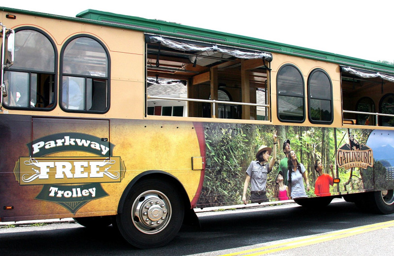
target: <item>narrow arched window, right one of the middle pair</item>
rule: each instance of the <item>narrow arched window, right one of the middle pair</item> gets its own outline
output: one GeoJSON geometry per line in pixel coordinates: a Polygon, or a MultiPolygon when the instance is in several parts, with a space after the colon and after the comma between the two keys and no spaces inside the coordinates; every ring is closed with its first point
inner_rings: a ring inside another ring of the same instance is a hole
{"type": "Polygon", "coordinates": [[[308,106],[308,117],[311,123],[332,123],[332,84],[323,69],[314,69],[308,77],[308,106]]]}

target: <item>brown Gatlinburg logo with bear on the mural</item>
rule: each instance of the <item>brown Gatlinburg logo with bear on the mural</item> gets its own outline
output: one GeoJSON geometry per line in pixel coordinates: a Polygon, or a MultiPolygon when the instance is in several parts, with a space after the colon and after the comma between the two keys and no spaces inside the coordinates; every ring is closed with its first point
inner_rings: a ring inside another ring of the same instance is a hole
{"type": "Polygon", "coordinates": [[[373,166],[372,149],[365,144],[359,142],[352,136],[349,136],[349,143],[344,144],[336,152],[336,161],[338,167],[350,169],[352,167],[360,167],[366,169],[373,166]]]}

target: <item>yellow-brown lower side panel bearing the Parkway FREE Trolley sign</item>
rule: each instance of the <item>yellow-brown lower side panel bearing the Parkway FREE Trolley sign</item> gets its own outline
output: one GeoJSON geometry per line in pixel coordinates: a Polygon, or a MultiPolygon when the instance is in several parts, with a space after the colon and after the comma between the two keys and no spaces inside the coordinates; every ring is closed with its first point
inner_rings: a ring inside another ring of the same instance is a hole
{"type": "Polygon", "coordinates": [[[114,215],[127,185],[150,170],[174,176],[190,201],[201,190],[198,124],[9,115],[1,126],[1,221],[114,215]]]}

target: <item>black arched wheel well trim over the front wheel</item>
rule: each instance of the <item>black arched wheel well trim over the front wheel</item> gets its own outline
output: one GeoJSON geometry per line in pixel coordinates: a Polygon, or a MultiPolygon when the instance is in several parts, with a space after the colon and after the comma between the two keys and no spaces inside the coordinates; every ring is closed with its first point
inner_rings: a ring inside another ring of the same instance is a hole
{"type": "Polygon", "coordinates": [[[164,171],[160,171],[160,170],[151,170],[151,171],[146,171],[146,172],[140,173],[134,179],[131,180],[131,182],[127,185],[125,191],[123,192],[123,194],[119,200],[118,213],[122,213],[122,205],[125,203],[126,197],[129,194],[131,188],[137,182],[140,182],[142,180],[147,180],[147,179],[160,179],[160,180],[163,180],[165,182],[172,184],[172,186],[175,186],[176,190],[180,193],[180,196],[184,202],[185,221],[189,222],[189,220],[194,220],[194,216],[189,216],[191,214],[192,215],[193,214],[196,215],[196,214],[194,213],[193,209],[191,209],[190,200],[188,198],[185,188],[182,186],[182,184],[180,183],[180,181],[176,177],[174,177],[173,175],[166,173],[164,171]]]}

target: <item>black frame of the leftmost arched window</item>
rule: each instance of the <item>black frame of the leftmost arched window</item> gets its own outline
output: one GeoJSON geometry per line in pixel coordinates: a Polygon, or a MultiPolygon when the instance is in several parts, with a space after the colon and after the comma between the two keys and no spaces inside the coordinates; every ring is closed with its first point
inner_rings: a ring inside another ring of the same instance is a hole
{"type": "Polygon", "coordinates": [[[53,48],[54,70],[53,70],[53,72],[48,72],[48,71],[37,71],[37,70],[33,70],[33,69],[20,69],[20,68],[13,68],[12,65],[10,67],[4,68],[5,72],[18,72],[18,73],[28,73],[29,74],[29,78],[28,78],[28,82],[29,82],[29,84],[28,84],[28,106],[27,107],[25,107],[25,106],[8,106],[4,103],[4,101],[3,101],[2,106],[5,109],[9,109],[9,110],[52,111],[58,103],[58,101],[57,101],[57,99],[58,99],[58,97],[57,97],[57,94],[58,94],[58,87],[57,87],[57,84],[58,84],[58,63],[59,63],[58,49],[56,47],[54,40],[52,39],[52,37],[48,33],[44,32],[43,30],[40,30],[38,28],[32,27],[32,26],[24,26],[24,27],[16,28],[14,30],[15,35],[17,32],[25,31],[25,30],[32,30],[32,31],[41,33],[43,36],[45,36],[48,39],[49,43],[52,45],[52,48],[53,48]],[[32,74],[37,74],[37,77],[40,74],[53,75],[52,82],[53,82],[54,96],[53,96],[53,102],[50,102],[50,103],[53,103],[52,106],[50,106],[50,107],[31,107],[30,102],[32,99],[31,98],[31,96],[32,96],[32,84],[31,84],[32,74]]]}

